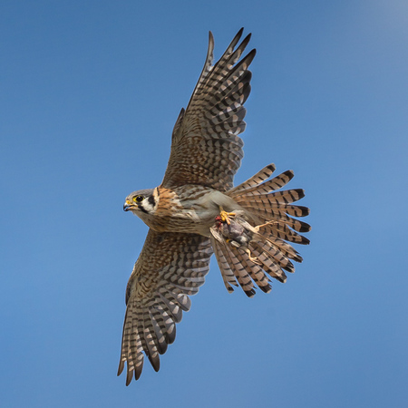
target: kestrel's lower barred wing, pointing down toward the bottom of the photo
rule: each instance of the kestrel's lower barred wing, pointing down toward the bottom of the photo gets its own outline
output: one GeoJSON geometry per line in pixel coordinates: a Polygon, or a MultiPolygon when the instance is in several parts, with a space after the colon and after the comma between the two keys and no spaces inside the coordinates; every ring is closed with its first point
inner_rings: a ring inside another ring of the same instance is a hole
{"type": "Polygon", "coordinates": [[[159,355],[176,336],[176,323],[188,311],[209,272],[209,238],[159,233],[150,229],[126,289],[126,316],[118,375],[127,362],[126,385],[143,368],[143,352],[159,371],[159,355]]]}

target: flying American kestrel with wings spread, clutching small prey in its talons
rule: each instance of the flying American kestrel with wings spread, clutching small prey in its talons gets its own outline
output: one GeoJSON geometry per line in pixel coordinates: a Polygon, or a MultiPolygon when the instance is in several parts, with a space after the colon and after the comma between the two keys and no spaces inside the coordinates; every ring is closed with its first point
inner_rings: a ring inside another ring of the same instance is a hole
{"type": "Polygon", "coordinates": [[[164,179],[155,189],[132,192],[123,206],[150,227],[126,288],[118,375],[127,362],[127,385],[133,375],[139,379],[143,354],[159,370],[159,355],[173,343],[189,295],[204,284],[213,252],[228,292],[239,285],[254,296],[256,286],[271,290],[268,277],[285,282],[285,271],[295,270],[291,260],[302,261],[287,241],[309,243],[298,232],[310,226],[293,218],[309,213],[292,204],[304,197],[303,189],[277,191],[293,178],[292,170],[271,179],[275,166],[269,164],[233,187],[243,157],[238,134],[246,127],[248,67],[256,53],[240,59],[250,39],[248,34],[236,48],[242,32],[214,65],[209,33],[199,82],[173,129],[164,179]]]}

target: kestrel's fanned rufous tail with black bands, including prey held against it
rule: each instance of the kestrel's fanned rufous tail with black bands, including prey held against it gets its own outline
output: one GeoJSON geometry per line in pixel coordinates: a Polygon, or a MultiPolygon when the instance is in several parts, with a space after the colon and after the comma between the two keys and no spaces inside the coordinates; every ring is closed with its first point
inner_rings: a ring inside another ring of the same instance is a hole
{"type": "Polygon", "coordinates": [[[268,293],[272,288],[268,277],[286,282],[286,272],[295,272],[292,261],[303,260],[289,242],[309,243],[299,232],[309,231],[310,226],[293,218],[309,214],[306,207],[293,204],[305,192],[277,191],[292,180],[294,173],[287,170],[270,179],[274,170],[275,166],[269,164],[230,189],[228,196],[245,211],[234,211],[228,222],[218,221],[211,228],[211,244],[228,292],[239,285],[249,297],[255,295],[256,286],[268,293]]]}

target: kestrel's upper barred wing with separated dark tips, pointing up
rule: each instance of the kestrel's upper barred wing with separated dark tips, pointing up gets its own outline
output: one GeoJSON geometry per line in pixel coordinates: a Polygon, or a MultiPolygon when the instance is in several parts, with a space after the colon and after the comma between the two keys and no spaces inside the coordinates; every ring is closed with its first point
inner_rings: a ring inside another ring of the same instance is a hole
{"type": "Polygon", "coordinates": [[[241,28],[219,62],[212,66],[214,39],[209,32],[209,51],[199,82],[174,126],[170,160],[161,183],[174,188],[200,184],[226,191],[243,157],[238,134],[245,130],[243,104],[250,92],[248,70],[256,50],[239,62],[250,34],[238,45],[241,28]]]}

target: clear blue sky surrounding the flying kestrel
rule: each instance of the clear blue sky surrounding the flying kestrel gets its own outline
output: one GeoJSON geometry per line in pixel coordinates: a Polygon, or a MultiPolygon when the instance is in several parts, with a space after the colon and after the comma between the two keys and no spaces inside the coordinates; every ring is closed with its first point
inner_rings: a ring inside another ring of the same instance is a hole
{"type": "Polygon", "coordinates": [[[408,4],[3,1],[2,407],[403,407],[408,400],[408,4]],[[295,170],[305,261],[269,295],[211,262],[159,373],[116,377],[124,291],[207,52],[257,48],[245,158],[295,170]]]}

